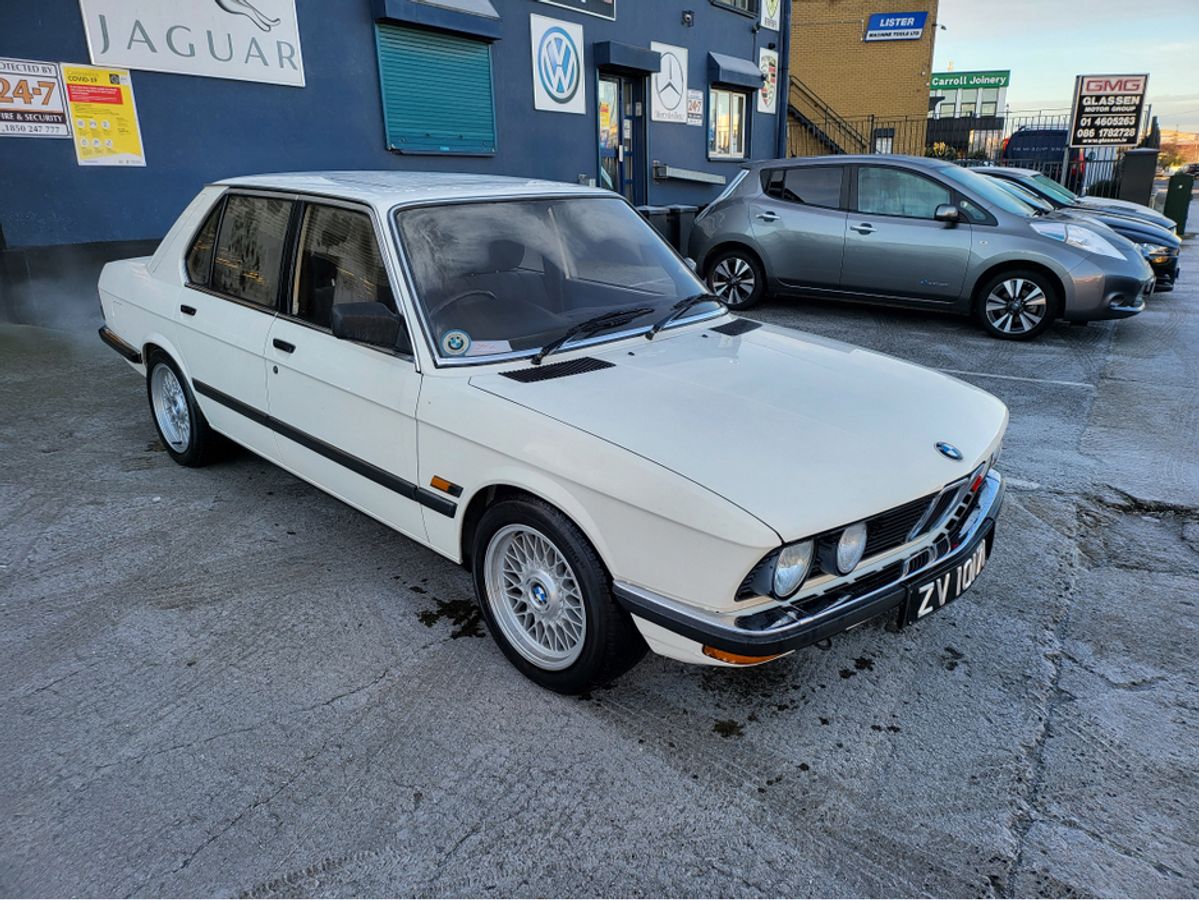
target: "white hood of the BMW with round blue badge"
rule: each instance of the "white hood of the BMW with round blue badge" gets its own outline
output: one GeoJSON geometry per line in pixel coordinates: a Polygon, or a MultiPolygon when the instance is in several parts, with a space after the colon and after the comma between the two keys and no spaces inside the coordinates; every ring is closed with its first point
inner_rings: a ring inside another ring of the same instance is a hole
{"type": "Polygon", "coordinates": [[[470,381],[707,488],[785,540],[965,477],[1007,425],[1006,406],[976,387],[771,326],[741,336],[687,328],[590,356],[611,366],[470,381]],[[942,455],[939,441],[963,459],[942,455]]]}

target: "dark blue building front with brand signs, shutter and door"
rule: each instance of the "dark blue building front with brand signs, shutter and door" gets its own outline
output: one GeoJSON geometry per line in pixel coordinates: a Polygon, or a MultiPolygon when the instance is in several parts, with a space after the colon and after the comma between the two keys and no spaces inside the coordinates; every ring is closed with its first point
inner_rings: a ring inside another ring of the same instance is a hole
{"type": "Polygon", "coordinates": [[[31,103],[0,103],[0,249],[156,238],[204,183],[265,171],[493,173],[706,203],[745,159],[783,149],[779,7],[5,2],[0,64],[50,68],[22,75],[31,103]],[[74,68],[89,65],[106,68],[74,68]],[[53,87],[36,87],[54,66],[71,104],[30,126],[58,108],[53,87]],[[106,93],[113,105],[97,105],[106,93]],[[42,101],[47,111],[25,108],[42,101]],[[30,137],[47,128],[68,133],[30,137]]]}

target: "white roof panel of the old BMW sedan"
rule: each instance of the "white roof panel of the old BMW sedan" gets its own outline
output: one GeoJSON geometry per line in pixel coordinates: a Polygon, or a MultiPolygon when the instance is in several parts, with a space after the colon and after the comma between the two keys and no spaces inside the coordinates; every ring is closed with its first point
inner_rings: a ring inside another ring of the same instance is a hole
{"type": "Polygon", "coordinates": [[[475,198],[544,197],[546,194],[611,195],[610,191],[542,179],[436,171],[295,171],[241,175],[219,186],[265,188],[338,197],[390,207],[402,203],[475,198]]]}

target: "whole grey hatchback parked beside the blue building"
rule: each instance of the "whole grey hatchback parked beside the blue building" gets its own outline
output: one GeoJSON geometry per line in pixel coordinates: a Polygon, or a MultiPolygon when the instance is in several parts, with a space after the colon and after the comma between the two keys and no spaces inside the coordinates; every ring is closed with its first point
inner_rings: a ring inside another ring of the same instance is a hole
{"type": "Polygon", "coordinates": [[[1123,319],[1153,272],[1123,237],[1046,215],[939,159],[827,156],[743,169],[695,221],[691,255],[745,309],[767,292],[974,315],[1024,340],[1055,319],[1123,319]]]}

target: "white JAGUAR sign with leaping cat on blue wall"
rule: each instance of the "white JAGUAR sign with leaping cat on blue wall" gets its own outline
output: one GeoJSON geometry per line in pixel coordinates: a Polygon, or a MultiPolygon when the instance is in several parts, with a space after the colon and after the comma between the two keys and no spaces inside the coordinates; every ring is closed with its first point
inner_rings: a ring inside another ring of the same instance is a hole
{"type": "Polygon", "coordinates": [[[79,0],[91,61],[303,86],[295,0],[79,0]]]}

